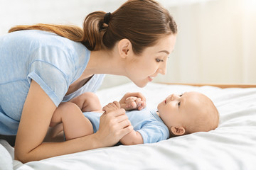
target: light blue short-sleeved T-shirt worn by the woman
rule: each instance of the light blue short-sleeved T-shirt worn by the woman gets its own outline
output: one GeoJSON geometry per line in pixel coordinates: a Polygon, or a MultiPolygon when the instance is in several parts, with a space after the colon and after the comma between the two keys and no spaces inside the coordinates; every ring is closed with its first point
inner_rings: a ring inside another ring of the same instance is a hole
{"type": "Polygon", "coordinates": [[[68,87],[87,67],[90,50],[54,33],[21,30],[0,37],[0,135],[16,135],[31,79],[55,106],[85,91],[95,92],[104,74],[65,96],[68,87]]]}

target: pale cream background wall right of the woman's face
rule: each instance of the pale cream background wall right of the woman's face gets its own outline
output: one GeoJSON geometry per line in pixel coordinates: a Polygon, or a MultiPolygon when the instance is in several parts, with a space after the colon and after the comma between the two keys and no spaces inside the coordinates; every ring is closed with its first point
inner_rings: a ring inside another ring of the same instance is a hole
{"type": "Polygon", "coordinates": [[[255,0],[215,0],[169,9],[178,23],[178,40],[167,81],[256,84],[255,0]]]}

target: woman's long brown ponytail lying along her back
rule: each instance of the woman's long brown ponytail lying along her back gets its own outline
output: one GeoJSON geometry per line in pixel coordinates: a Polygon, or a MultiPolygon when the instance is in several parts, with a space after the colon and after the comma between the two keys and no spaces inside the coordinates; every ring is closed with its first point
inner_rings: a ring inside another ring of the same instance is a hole
{"type": "Polygon", "coordinates": [[[9,30],[9,33],[18,30],[44,30],[81,42],[88,50],[100,50],[105,47],[102,45],[102,37],[108,28],[108,24],[104,23],[105,14],[103,11],[90,13],[85,18],[83,30],[78,26],[38,23],[33,26],[15,26],[9,30]]]}

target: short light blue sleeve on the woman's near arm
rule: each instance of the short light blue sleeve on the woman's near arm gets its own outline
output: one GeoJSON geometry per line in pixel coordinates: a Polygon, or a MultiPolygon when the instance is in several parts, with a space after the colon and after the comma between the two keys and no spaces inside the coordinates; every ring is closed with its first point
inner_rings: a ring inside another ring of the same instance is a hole
{"type": "Polygon", "coordinates": [[[72,61],[58,47],[41,47],[32,56],[28,80],[36,81],[55,106],[63,100],[73,79],[72,61]]]}

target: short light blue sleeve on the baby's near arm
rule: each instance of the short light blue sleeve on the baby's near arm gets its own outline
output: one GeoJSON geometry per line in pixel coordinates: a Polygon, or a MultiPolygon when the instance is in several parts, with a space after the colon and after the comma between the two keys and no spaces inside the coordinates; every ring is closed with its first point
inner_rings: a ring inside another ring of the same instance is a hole
{"type": "Polygon", "coordinates": [[[168,128],[158,121],[146,123],[138,132],[142,135],[144,143],[154,143],[169,138],[168,128]]]}

